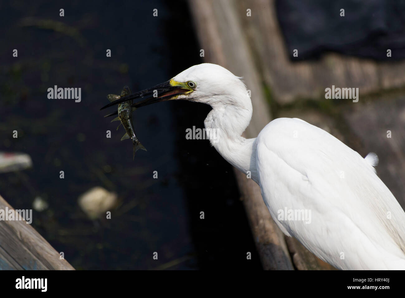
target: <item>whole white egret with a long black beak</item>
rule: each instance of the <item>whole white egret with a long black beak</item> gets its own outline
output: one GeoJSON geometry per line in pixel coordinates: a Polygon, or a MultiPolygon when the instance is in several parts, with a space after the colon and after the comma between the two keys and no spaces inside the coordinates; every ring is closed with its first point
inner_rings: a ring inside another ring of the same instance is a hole
{"type": "Polygon", "coordinates": [[[257,138],[245,139],[252,117],[246,86],[216,64],[194,65],[114,103],[145,96],[134,106],[172,99],[211,105],[204,124],[217,133],[212,146],[234,167],[252,173],[277,226],[320,259],[339,269],[405,269],[405,212],[376,175],[376,155],[363,159],[297,118],[275,119],[257,138]],[[309,210],[311,218],[280,219],[283,210],[309,210]]]}

